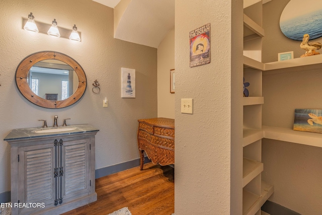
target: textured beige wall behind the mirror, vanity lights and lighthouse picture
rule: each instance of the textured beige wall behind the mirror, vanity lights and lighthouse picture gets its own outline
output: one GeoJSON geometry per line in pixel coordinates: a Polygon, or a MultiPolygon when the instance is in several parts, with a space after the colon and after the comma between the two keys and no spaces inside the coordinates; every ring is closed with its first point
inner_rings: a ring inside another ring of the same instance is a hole
{"type": "Polygon", "coordinates": [[[89,123],[100,129],[96,138],[96,169],[139,158],[137,119],[157,116],[157,50],[113,38],[113,9],[89,0],[3,0],[0,7],[0,193],[10,190],[10,146],[3,139],[13,128],[41,126],[71,118],[70,124],[89,123]],[[71,28],[76,24],[82,42],[31,34],[22,18],[32,12],[39,22],[71,28]],[[18,91],[15,71],[27,55],[53,50],[74,58],[85,70],[85,95],[74,105],[58,110],[38,107],[18,91]],[[121,67],[136,69],[136,98],[121,98],[121,67]],[[92,92],[99,81],[101,92],[92,92]],[[107,97],[108,108],[103,108],[107,97]]]}

